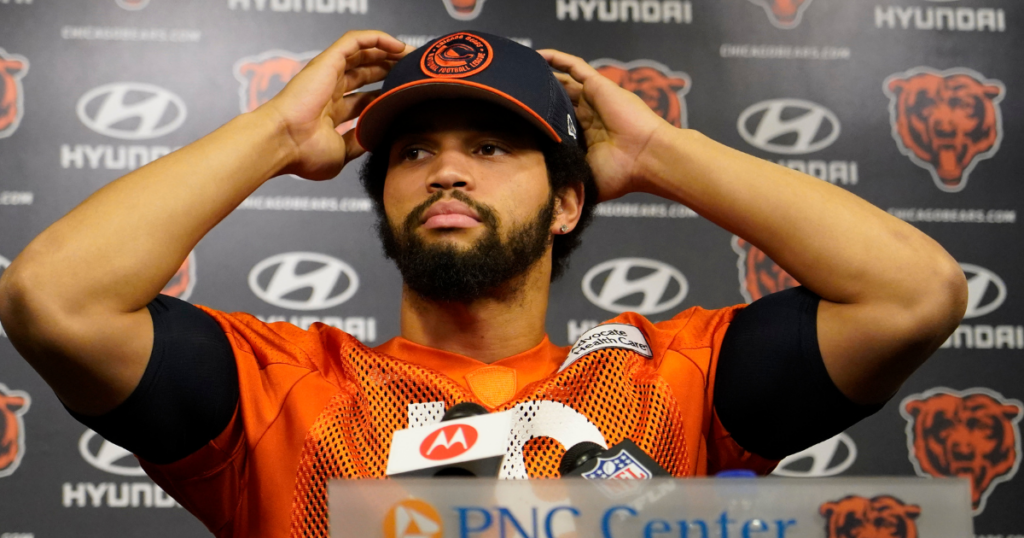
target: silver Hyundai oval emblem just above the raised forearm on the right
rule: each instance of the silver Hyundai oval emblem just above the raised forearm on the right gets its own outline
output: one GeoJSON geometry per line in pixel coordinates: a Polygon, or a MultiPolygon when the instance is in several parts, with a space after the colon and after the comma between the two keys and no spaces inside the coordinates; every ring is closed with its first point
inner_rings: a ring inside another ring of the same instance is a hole
{"type": "Polygon", "coordinates": [[[739,135],[751,146],[782,155],[824,150],[839,138],[839,118],[809,100],[781,98],[752,105],[736,122],[739,135]]]}

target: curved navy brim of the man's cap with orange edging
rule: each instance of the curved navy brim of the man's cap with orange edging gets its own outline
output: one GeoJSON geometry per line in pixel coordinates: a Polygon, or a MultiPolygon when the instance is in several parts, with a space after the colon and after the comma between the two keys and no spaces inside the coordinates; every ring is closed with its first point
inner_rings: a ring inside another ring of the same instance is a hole
{"type": "Polygon", "coordinates": [[[359,115],[355,139],[367,151],[374,151],[387,134],[395,118],[410,107],[433,99],[471,98],[493,102],[536,126],[552,140],[561,143],[558,132],[536,111],[515,97],[476,82],[461,79],[423,79],[392,88],[374,99],[359,115]]]}

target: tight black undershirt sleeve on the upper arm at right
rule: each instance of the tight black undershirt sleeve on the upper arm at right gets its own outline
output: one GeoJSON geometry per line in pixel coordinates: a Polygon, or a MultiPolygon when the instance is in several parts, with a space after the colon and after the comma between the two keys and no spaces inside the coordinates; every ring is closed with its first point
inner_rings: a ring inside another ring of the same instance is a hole
{"type": "Polygon", "coordinates": [[[819,297],[798,287],[737,311],[715,370],[719,434],[770,460],[811,447],[873,414],[851,402],[825,370],[817,339],[819,297]]]}

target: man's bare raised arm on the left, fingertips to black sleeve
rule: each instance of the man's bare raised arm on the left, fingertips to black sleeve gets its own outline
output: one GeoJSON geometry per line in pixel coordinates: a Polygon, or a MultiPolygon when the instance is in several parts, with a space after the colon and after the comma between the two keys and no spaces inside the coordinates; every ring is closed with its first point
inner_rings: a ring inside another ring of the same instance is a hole
{"type": "Polygon", "coordinates": [[[11,343],[71,410],[132,392],[153,348],[146,304],[189,250],[268,178],[334,177],[362,152],[335,128],[374,96],[404,45],[350,32],[273,99],[99,190],[39,235],[0,279],[11,343]]]}

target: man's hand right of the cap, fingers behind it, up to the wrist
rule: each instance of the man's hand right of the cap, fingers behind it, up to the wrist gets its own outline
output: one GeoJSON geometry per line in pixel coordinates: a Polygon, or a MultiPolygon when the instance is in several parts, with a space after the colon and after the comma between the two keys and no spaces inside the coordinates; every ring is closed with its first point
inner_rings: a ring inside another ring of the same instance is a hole
{"type": "Polygon", "coordinates": [[[538,52],[551,67],[563,72],[555,76],[575,107],[599,201],[647,192],[642,171],[644,151],[652,137],[676,128],[643,99],[618,87],[583,58],[554,49],[538,52]]]}

